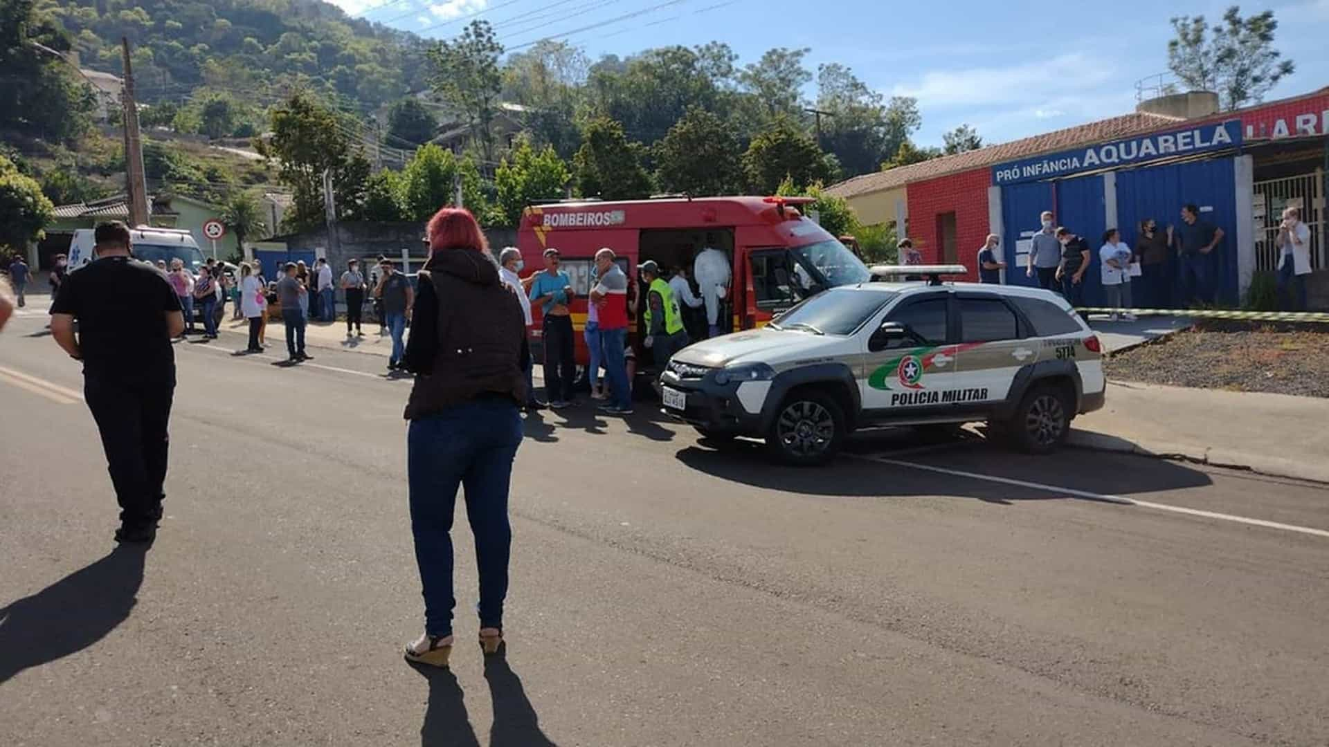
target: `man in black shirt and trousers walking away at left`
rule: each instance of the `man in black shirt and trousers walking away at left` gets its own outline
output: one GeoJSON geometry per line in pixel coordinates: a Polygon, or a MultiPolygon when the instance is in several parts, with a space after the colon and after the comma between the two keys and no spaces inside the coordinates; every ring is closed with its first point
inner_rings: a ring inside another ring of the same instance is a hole
{"type": "Polygon", "coordinates": [[[152,542],[162,516],[175,391],[170,340],[185,331],[185,318],[166,278],[130,257],[124,223],[98,225],[94,253],[96,261],[61,283],[51,334],[84,364],[84,399],[120,501],[116,541],[152,542]]]}

